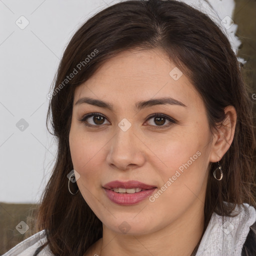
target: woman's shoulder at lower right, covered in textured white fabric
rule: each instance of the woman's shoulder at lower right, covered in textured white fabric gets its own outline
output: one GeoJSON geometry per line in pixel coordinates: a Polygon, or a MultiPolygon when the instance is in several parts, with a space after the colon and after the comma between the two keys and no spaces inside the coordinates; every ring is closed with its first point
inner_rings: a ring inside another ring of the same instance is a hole
{"type": "Polygon", "coordinates": [[[214,212],[202,236],[196,256],[255,256],[254,252],[250,252],[256,246],[255,232],[252,230],[255,221],[256,209],[247,203],[236,205],[230,217],[214,212]],[[250,254],[242,254],[245,249],[249,249],[246,252],[250,254]]]}

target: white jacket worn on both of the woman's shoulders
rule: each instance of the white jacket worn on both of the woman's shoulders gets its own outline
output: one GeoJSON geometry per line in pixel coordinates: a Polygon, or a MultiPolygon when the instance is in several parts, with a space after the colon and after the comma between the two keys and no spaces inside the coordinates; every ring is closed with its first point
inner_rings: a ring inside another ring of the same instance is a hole
{"type": "MultiPolygon", "coordinates": [[[[219,216],[213,213],[202,236],[196,256],[240,256],[242,246],[249,232],[249,227],[256,221],[254,207],[244,203],[246,210],[238,207],[234,211],[240,213],[235,217],[219,216]]],[[[36,248],[46,241],[44,230],[28,237],[7,251],[2,256],[32,256],[36,248]]],[[[256,241],[255,241],[256,243],[256,241]]],[[[54,256],[48,245],[38,256],[54,256]]]]}

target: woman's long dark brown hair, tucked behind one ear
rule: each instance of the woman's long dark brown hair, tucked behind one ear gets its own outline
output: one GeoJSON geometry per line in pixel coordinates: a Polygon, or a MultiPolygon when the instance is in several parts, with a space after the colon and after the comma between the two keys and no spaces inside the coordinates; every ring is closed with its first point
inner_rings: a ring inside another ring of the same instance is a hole
{"type": "Polygon", "coordinates": [[[231,216],[236,205],[256,206],[252,100],[229,40],[206,14],[185,3],[122,1],[80,26],[65,48],[54,77],[55,92],[50,98],[46,125],[49,131],[50,122],[49,132],[56,138],[57,157],[35,223],[35,232],[45,229],[47,241],[43,246],[48,244],[54,255],[83,255],[102,237],[101,221],[81,193],[72,195],[67,187],[67,174],[73,169],[68,142],[73,96],[75,88],[107,60],[129,49],[161,49],[187,75],[203,99],[211,132],[225,119],[226,106],[236,109],[233,141],[220,160],[222,180],[212,175],[216,164],[208,165],[203,232],[213,212],[231,216]],[[79,69],[77,74],[66,80],[75,69],[79,69]]]}

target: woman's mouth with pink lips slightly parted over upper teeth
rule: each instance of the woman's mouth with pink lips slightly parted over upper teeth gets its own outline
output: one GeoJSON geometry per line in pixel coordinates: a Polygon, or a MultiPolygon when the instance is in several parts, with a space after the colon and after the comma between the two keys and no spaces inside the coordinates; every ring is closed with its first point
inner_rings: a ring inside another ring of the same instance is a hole
{"type": "Polygon", "coordinates": [[[103,185],[103,188],[106,196],[112,202],[130,205],[149,197],[157,187],[136,180],[125,182],[114,180],[103,185]]]}

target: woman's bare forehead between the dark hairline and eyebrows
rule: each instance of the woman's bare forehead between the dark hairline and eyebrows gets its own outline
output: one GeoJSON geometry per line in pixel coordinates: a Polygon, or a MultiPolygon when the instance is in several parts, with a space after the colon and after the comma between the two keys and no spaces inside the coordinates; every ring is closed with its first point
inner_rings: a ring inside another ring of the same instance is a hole
{"type": "Polygon", "coordinates": [[[163,96],[185,105],[201,103],[188,77],[160,49],[126,50],[110,58],[75,89],[74,102],[83,96],[113,104],[163,96]]]}

